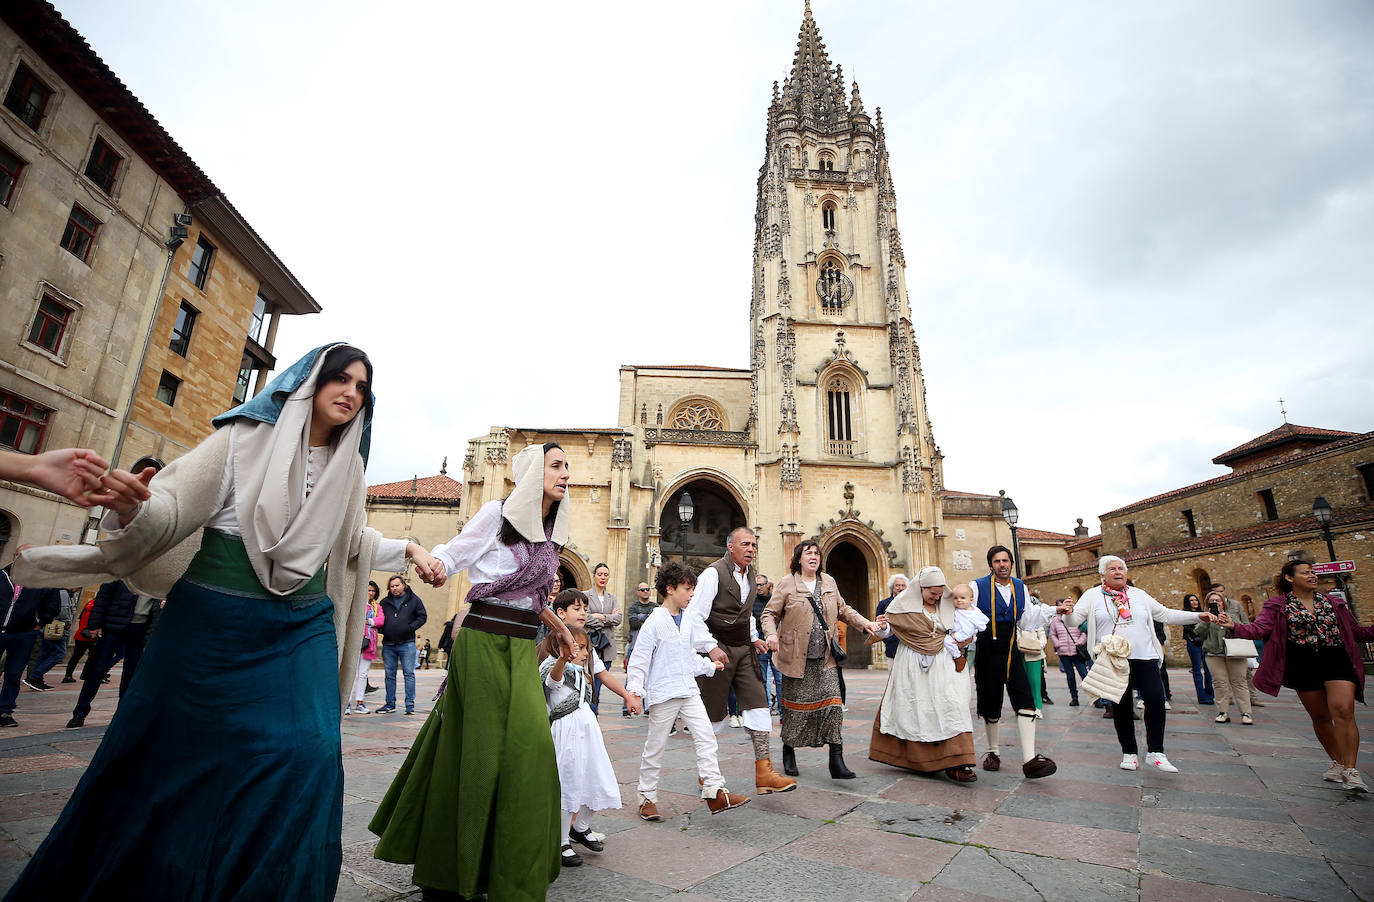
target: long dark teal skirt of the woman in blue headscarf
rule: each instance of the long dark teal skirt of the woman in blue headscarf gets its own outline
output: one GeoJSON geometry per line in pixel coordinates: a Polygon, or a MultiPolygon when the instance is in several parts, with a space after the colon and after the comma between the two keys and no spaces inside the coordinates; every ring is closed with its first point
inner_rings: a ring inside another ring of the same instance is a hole
{"type": "Polygon", "coordinates": [[[91,766],[8,901],[326,902],[344,828],[328,598],[185,579],[91,766]]]}

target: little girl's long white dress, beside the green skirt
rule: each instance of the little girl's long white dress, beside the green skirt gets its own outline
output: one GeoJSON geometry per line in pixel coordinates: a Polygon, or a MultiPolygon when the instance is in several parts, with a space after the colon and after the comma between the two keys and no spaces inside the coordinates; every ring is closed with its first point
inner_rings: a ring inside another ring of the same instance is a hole
{"type": "MultiPolygon", "coordinates": [[[[577,693],[581,696],[577,708],[548,725],[554,734],[554,752],[558,756],[558,782],[561,785],[563,811],[577,811],[583,806],[592,811],[620,807],[620,784],[606,754],[596,715],[587,704],[584,681],[587,672],[574,674],[572,666],[563,674],[565,682],[554,681],[554,666],[558,659],[548,657],[539,666],[544,681],[544,700],[550,711],[577,693]],[[574,688],[569,686],[573,683],[574,688]]],[[[600,659],[592,656],[588,663],[595,668],[591,678],[606,670],[600,659]]]]}

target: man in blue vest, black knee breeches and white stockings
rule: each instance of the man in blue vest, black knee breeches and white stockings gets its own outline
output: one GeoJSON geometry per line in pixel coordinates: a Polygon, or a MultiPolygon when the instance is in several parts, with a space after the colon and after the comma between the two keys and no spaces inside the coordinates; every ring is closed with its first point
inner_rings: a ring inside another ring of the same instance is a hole
{"type": "Polygon", "coordinates": [[[988,754],[982,756],[984,770],[1002,767],[1002,748],[998,745],[1002,726],[1002,694],[1011,698],[1017,712],[1021,737],[1021,773],[1030,778],[1048,777],[1057,767],[1052,760],[1035,752],[1035,696],[1026,678],[1025,661],[1017,648],[1017,630],[1044,628],[1050,617],[1069,613],[1073,605],[1058,608],[1041,605],[1030,598],[1026,584],[1011,576],[1011,549],[995,544],[988,549],[988,568],[982,579],[973,580],[973,600],[988,616],[988,626],[978,634],[973,657],[973,683],[978,693],[978,716],[988,730],[988,754]]]}

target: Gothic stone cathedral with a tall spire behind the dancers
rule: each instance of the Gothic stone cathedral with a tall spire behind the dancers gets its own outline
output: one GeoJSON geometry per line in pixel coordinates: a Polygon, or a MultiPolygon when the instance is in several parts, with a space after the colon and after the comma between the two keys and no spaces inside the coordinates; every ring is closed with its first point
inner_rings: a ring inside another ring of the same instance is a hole
{"type": "MultiPolygon", "coordinates": [[[[720,557],[739,525],[774,579],[816,538],[841,594],[870,617],[892,575],[936,564],[965,582],[987,572],[991,544],[1011,544],[999,496],[945,488],[882,111],[831,65],[809,3],[767,121],[747,368],[621,366],[613,428],[493,428],[469,443],[459,525],[510,491],[515,451],[556,440],[573,473],[563,584],[589,587],[606,562],[622,604],[661,562],[720,557]]],[[[1066,562],[1073,536],[1020,532],[1041,568],[1066,562]]],[[[467,590],[455,582],[451,610],[467,590]]]]}

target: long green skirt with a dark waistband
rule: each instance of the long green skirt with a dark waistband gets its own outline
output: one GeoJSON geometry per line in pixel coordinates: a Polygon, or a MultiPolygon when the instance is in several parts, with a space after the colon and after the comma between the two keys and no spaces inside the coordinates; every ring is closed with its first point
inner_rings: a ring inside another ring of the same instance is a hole
{"type": "Polygon", "coordinates": [[[459,630],[448,686],[370,829],[420,887],[543,899],[562,868],[558,764],[534,642],[459,630]]]}

